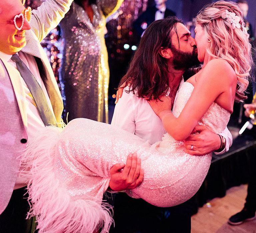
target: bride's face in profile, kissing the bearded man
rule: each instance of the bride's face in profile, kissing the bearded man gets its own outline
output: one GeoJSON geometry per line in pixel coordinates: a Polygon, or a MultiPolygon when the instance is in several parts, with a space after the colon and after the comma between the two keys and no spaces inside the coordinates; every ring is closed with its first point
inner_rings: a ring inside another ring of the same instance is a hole
{"type": "Polygon", "coordinates": [[[195,27],[195,42],[197,47],[197,58],[200,62],[203,62],[209,42],[205,36],[203,28],[198,24],[195,27]]]}

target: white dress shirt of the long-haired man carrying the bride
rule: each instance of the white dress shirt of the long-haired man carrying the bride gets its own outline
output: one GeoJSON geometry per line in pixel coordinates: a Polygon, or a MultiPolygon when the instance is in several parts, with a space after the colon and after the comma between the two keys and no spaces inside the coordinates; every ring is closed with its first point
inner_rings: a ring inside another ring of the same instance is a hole
{"type": "MultiPolygon", "coordinates": [[[[178,92],[183,83],[184,80],[182,79],[178,92]]],[[[124,89],[122,97],[115,106],[111,124],[131,132],[140,138],[149,140],[150,144],[161,141],[163,135],[166,133],[162,120],[155,114],[144,98],[139,98],[136,92],[135,94],[133,92],[127,93],[125,90],[129,90],[129,87],[124,89]]],[[[169,94],[169,90],[167,94],[169,94]]],[[[177,94],[174,102],[176,101],[177,94]]],[[[232,145],[232,135],[227,127],[220,134],[226,139],[226,147],[223,151],[216,154],[228,151],[232,145]]]]}

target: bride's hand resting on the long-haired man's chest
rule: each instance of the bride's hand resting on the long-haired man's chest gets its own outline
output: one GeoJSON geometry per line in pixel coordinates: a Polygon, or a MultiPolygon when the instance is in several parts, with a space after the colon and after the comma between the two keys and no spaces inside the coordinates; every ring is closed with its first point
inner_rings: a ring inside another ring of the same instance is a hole
{"type": "Polygon", "coordinates": [[[171,111],[172,109],[172,99],[169,96],[161,96],[160,100],[150,100],[148,103],[154,110],[155,114],[161,117],[163,111],[171,111]]]}

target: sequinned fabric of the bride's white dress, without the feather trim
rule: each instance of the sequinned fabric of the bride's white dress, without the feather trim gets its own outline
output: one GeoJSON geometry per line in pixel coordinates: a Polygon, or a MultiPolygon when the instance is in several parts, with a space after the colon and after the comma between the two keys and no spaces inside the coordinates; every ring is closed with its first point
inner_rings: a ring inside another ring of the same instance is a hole
{"type": "MultiPolygon", "coordinates": [[[[183,84],[174,106],[175,116],[181,113],[192,91],[193,85],[183,84]]],[[[229,116],[229,112],[213,103],[200,124],[221,132],[229,116]]],[[[168,133],[161,142],[150,146],[136,135],[87,119],[72,120],[60,135],[58,148],[58,176],[62,177],[71,195],[87,193],[99,198],[109,182],[111,166],[125,162],[129,153],[137,151],[145,170],[144,181],[128,194],[163,207],[180,204],[192,197],[201,186],[211,162],[210,154],[185,154],[182,142],[174,140],[168,133]],[[64,177],[63,170],[67,174],[64,177]]]]}

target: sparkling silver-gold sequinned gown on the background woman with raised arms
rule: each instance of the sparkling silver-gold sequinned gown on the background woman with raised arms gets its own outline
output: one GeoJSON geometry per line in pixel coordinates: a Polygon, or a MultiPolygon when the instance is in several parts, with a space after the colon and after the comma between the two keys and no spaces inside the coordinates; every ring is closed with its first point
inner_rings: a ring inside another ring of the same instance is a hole
{"type": "Polygon", "coordinates": [[[64,120],[88,118],[108,123],[108,54],[104,39],[106,17],[123,0],[98,0],[92,4],[91,23],[85,10],[72,3],[60,22],[64,41],[60,82],[64,120]]]}

